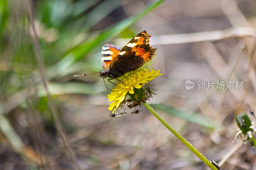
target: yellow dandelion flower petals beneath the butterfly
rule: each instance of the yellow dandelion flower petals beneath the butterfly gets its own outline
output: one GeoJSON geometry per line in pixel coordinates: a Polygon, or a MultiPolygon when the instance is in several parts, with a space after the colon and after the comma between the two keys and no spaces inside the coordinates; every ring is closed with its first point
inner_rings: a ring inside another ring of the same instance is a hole
{"type": "Polygon", "coordinates": [[[111,94],[108,95],[108,101],[113,101],[108,107],[108,110],[112,110],[114,113],[115,109],[120,106],[120,104],[126,98],[127,93],[134,93],[134,89],[140,89],[145,83],[155,79],[157,76],[163,75],[159,73],[160,70],[155,71],[152,68],[152,71],[148,72],[148,69],[138,69],[125,75],[121,81],[118,81],[112,89],[111,94]]]}

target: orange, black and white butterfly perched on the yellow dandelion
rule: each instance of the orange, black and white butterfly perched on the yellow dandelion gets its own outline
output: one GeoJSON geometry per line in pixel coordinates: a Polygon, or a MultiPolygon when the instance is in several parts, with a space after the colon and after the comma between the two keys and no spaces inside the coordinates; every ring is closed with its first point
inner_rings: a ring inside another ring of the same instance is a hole
{"type": "MultiPolygon", "coordinates": [[[[150,37],[147,31],[143,31],[136,35],[122,49],[112,44],[105,44],[101,50],[101,65],[103,71],[99,73],[96,72],[98,73],[97,76],[102,78],[108,77],[110,78],[108,81],[117,79],[127,72],[139,69],[143,64],[152,60],[153,56],[156,54],[156,48],[152,48],[149,45],[150,37]]],[[[75,75],[75,77],[85,75],[89,74],[75,75]]]]}

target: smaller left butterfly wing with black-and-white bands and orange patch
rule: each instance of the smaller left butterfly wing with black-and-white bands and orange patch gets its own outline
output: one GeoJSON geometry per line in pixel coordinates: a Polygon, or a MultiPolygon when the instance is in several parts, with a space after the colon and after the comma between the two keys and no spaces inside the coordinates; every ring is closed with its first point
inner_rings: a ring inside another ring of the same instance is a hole
{"type": "Polygon", "coordinates": [[[116,55],[120,52],[121,48],[112,44],[105,44],[101,50],[101,65],[103,70],[109,70],[109,65],[116,55]]]}

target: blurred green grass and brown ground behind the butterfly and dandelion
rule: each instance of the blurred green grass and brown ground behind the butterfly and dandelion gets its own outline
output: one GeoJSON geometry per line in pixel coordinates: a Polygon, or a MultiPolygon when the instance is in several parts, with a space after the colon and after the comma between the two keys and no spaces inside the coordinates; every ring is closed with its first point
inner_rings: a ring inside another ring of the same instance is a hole
{"type": "Polygon", "coordinates": [[[0,169],[207,169],[145,107],[109,118],[103,79],[74,78],[102,70],[104,44],[122,48],[144,30],[158,49],[143,68],[164,74],[148,103],[208,160],[255,169],[255,148],[233,142],[235,116],[256,109],[255,9],[253,0],[1,0],[0,169]],[[244,84],[197,89],[218,80],[244,84]]]}

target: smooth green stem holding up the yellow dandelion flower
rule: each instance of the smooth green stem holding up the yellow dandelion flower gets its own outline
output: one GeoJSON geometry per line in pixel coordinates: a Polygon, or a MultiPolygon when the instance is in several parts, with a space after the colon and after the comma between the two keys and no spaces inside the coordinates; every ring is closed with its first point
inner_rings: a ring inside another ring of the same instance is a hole
{"type": "MultiPolygon", "coordinates": [[[[206,159],[200,152],[194,148],[184,137],[182,137],[175,129],[172,128],[160,115],[156,113],[156,111],[148,105],[148,103],[144,103],[144,106],[167,128],[169,129],[173,135],[175,135],[183,144],[185,144],[190,151],[192,151],[196,156],[201,159],[209,168],[212,170],[216,170],[217,168],[212,165],[212,163],[206,159]]],[[[255,142],[255,141],[254,141],[255,142]]],[[[254,144],[254,143],[253,143],[254,144]]],[[[255,143],[256,144],[256,143],[255,143]]]]}

